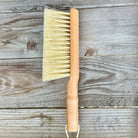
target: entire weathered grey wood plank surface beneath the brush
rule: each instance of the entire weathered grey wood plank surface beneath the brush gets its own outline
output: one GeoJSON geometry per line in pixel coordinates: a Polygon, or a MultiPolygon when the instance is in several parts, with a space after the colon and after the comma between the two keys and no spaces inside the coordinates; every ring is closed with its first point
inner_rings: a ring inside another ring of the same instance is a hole
{"type": "Polygon", "coordinates": [[[0,0],[0,138],[65,138],[68,78],[42,82],[44,6],[80,11],[80,138],[138,138],[138,0],[0,0]]]}

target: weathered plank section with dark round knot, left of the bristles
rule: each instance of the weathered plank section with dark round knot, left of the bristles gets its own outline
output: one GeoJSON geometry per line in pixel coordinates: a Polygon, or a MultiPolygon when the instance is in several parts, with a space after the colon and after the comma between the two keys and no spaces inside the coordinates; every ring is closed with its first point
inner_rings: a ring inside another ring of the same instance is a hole
{"type": "Polygon", "coordinates": [[[0,14],[0,18],[0,58],[42,57],[43,13],[0,14]]]}

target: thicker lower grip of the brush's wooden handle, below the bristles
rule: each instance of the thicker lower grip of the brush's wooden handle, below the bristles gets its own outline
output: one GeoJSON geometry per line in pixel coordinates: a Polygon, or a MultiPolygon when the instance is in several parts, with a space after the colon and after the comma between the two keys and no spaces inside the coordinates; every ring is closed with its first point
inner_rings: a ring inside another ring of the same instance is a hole
{"type": "Polygon", "coordinates": [[[67,131],[78,131],[78,81],[70,78],[67,85],[67,131]]]}

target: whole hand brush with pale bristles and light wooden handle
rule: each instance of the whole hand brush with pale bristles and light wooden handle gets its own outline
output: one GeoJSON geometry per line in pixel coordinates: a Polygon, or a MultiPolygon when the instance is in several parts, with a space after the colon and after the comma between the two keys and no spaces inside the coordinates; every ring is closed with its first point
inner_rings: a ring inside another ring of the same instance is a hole
{"type": "Polygon", "coordinates": [[[79,13],[45,9],[43,81],[70,76],[67,84],[67,131],[77,132],[79,13]]]}

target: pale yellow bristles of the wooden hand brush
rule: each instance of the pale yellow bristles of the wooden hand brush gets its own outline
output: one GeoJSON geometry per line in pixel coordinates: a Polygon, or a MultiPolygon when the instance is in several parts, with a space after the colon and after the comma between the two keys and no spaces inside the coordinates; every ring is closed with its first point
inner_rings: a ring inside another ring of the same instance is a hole
{"type": "Polygon", "coordinates": [[[70,75],[70,13],[45,9],[43,81],[70,75]]]}

